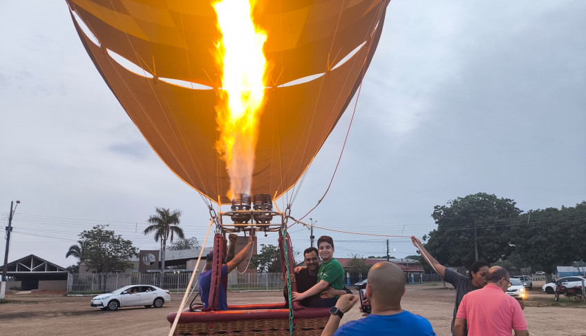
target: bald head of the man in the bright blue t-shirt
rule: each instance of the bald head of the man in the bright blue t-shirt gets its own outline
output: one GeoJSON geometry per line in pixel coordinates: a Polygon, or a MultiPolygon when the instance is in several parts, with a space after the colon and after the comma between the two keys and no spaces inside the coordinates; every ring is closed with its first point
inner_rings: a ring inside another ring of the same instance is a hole
{"type": "Polygon", "coordinates": [[[405,275],[396,264],[381,261],[368,271],[371,301],[399,304],[405,293],[405,275]]]}

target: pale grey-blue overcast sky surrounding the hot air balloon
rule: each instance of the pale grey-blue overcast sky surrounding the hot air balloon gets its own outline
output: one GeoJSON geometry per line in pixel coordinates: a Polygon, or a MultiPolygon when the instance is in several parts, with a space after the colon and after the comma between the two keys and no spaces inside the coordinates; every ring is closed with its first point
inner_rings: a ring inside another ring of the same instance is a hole
{"type": "MultiPolygon", "coordinates": [[[[64,1],[2,1],[0,219],[21,200],[9,261],[59,266],[82,230],[110,224],[141,249],[155,206],[187,237],[209,224],[198,193],[151,150],[98,74],[64,1]]],[[[523,211],[586,200],[586,1],[393,0],[316,226],[422,235],[433,206],[487,192],[523,211]]],[[[310,167],[301,217],[332,177],[353,103],[310,167]]],[[[283,208],[281,201],[278,205],[283,208]]],[[[294,248],[309,230],[293,226],[294,248]]],[[[385,255],[386,237],[332,233],[337,257],[385,255]]],[[[276,244],[276,235],[261,237],[276,244]]],[[[1,240],[1,261],[5,241],[1,240]]],[[[415,248],[391,237],[392,255],[415,248]]]]}

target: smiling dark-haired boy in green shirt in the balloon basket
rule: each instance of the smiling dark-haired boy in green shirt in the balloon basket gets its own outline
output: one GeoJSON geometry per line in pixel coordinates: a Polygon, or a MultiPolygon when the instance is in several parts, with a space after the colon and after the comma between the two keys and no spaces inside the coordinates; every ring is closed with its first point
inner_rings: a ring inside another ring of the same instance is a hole
{"type": "MultiPolygon", "coordinates": [[[[317,248],[319,250],[319,256],[323,261],[317,272],[317,284],[305,290],[303,293],[293,292],[293,301],[299,301],[306,297],[317,295],[330,286],[339,290],[344,288],[344,269],[340,262],[334,259],[334,241],[332,237],[319,237],[317,239],[317,248]]],[[[312,299],[310,307],[332,307],[336,305],[336,302],[337,297],[331,299],[315,297],[312,299]]]]}

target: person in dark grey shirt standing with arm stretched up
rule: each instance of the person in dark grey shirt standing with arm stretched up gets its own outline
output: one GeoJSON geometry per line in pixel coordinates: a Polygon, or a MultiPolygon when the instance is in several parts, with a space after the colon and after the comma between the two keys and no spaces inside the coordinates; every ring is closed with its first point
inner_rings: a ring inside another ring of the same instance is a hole
{"type": "MultiPolygon", "coordinates": [[[[469,277],[465,277],[464,275],[455,273],[453,270],[445,268],[442,264],[439,264],[439,262],[423,247],[419,239],[411,237],[411,241],[413,242],[413,245],[419,249],[427,264],[431,266],[440,277],[444,278],[444,281],[454,286],[456,293],[451,325],[452,335],[454,335],[454,323],[458,307],[460,306],[460,302],[462,302],[462,297],[471,291],[480,289],[486,285],[486,274],[489,272],[489,264],[486,264],[484,261],[475,261],[475,263],[469,268],[469,277]]],[[[465,332],[464,335],[466,335],[465,332]]]]}

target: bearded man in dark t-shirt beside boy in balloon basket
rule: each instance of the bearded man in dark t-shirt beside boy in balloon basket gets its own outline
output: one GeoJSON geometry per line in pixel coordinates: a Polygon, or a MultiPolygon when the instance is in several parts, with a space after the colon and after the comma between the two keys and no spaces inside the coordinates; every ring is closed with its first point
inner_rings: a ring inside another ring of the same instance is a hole
{"type": "MultiPolygon", "coordinates": [[[[295,275],[292,277],[292,281],[297,284],[297,292],[303,293],[317,284],[317,271],[319,270],[319,257],[317,256],[317,249],[314,247],[306,248],[303,251],[303,261],[305,267],[298,267],[295,269],[295,275]]],[[[345,288],[346,289],[346,288],[345,288]]],[[[302,299],[301,306],[308,307],[314,297],[337,297],[346,293],[352,293],[350,290],[335,290],[334,288],[328,288],[325,292],[312,297],[306,297],[302,299]]],[[[285,302],[288,301],[287,297],[287,283],[285,281],[285,290],[283,290],[283,296],[285,296],[285,302]]]]}

